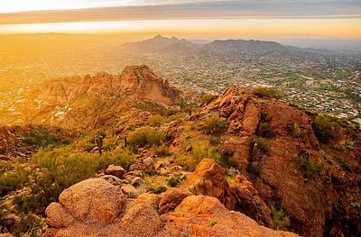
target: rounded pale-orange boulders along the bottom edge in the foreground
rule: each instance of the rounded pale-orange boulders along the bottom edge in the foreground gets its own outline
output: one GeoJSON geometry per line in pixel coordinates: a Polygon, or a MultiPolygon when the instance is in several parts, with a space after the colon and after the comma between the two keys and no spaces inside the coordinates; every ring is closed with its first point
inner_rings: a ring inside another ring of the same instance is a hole
{"type": "Polygon", "coordinates": [[[46,214],[50,227],[43,236],[297,236],[260,226],[244,214],[229,211],[215,197],[179,200],[171,208],[174,211],[159,214],[159,196],[143,194],[135,200],[125,199],[120,189],[105,179],[90,178],[69,187],[60,195],[59,203],[49,205],[46,214]]]}

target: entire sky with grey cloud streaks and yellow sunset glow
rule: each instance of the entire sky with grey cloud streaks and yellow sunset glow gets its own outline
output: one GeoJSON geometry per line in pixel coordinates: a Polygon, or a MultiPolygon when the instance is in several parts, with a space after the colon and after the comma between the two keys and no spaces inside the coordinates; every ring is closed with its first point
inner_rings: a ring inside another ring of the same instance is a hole
{"type": "Polygon", "coordinates": [[[361,0],[0,0],[0,34],[361,39],[361,0]]]}

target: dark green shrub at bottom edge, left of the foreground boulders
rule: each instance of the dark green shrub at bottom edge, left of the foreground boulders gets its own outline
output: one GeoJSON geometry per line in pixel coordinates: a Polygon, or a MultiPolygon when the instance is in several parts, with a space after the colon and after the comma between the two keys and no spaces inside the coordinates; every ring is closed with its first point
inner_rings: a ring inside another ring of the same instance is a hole
{"type": "Polygon", "coordinates": [[[45,221],[34,214],[21,214],[15,224],[15,236],[42,236],[45,221]]]}

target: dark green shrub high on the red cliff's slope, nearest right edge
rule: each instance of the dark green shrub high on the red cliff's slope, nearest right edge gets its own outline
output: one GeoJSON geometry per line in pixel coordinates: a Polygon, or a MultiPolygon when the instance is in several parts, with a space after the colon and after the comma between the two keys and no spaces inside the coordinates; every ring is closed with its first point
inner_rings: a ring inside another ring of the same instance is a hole
{"type": "Polygon", "coordinates": [[[312,121],[312,129],[319,141],[323,143],[328,143],[338,137],[335,131],[338,126],[335,119],[323,114],[317,114],[312,121]]]}

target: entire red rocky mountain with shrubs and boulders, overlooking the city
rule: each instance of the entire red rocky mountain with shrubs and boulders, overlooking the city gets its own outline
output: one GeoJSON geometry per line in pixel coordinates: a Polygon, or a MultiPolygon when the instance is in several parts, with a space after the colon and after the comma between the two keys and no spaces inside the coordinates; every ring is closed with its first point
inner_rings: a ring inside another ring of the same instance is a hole
{"type": "Polygon", "coordinates": [[[1,232],[359,235],[360,128],[267,87],[190,97],[146,66],[47,83],[40,124],[0,130],[1,232]]]}

